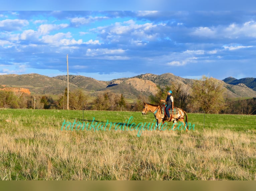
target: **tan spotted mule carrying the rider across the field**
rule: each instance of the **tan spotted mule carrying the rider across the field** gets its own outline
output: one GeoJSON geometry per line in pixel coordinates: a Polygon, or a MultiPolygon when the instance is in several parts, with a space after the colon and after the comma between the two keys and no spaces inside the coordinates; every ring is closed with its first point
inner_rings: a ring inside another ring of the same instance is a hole
{"type": "MultiPolygon", "coordinates": [[[[154,105],[154,104],[150,104],[150,103],[146,103],[144,102],[144,107],[142,109],[142,115],[146,115],[147,113],[154,113],[156,122],[157,122],[157,127],[158,130],[160,130],[160,123],[166,120],[166,116],[164,115],[163,109],[161,106],[159,105],[154,105]]],[[[187,131],[187,113],[178,107],[175,107],[175,112],[173,113],[171,120],[173,123],[175,122],[182,122],[184,125],[184,129],[186,129],[187,131]],[[186,122],[184,122],[184,117],[186,116],[186,122]]],[[[176,128],[176,123],[174,124],[173,128],[176,128]]]]}

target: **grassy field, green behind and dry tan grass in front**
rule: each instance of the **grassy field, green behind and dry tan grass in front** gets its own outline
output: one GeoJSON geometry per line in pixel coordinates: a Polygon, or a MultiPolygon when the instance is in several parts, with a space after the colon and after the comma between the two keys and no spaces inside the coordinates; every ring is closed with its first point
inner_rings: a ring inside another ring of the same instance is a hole
{"type": "Polygon", "coordinates": [[[256,180],[256,116],[188,113],[194,130],[169,124],[140,136],[126,129],[131,117],[129,125],[154,124],[152,113],[1,109],[0,178],[256,180]]]}

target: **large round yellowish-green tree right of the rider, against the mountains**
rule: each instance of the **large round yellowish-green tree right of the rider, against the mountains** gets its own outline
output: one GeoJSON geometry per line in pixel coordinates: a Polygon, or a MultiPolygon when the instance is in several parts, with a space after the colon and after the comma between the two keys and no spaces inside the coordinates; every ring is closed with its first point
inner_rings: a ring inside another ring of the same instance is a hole
{"type": "Polygon", "coordinates": [[[191,103],[194,109],[203,110],[206,113],[219,113],[225,108],[223,93],[222,82],[203,76],[193,84],[191,103]]]}

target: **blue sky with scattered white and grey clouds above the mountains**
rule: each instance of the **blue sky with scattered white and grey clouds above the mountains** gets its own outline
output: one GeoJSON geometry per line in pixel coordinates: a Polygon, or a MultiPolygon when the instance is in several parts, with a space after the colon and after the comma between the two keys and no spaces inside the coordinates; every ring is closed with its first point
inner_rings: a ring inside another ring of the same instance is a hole
{"type": "Polygon", "coordinates": [[[0,11],[0,74],[256,78],[256,11],[0,11]]]}

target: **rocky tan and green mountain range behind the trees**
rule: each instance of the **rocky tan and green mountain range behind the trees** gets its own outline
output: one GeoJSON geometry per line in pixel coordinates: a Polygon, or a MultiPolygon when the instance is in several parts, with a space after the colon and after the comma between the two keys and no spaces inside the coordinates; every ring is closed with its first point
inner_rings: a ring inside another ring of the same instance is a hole
{"type": "MultiPolygon", "coordinates": [[[[70,91],[80,88],[91,97],[97,96],[103,92],[113,92],[123,94],[127,99],[136,99],[141,95],[149,96],[155,94],[157,86],[170,86],[173,82],[187,87],[191,87],[195,80],[175,76],[171,73],[162,75],[141,74],[131,78],[120,78],[111,81],[98,81],[93,78],[69,75],[70,91]]],[[[227,96],[230,98],[256,97],[256,79],[243,78],[237,80],[229,77],[223,81],[218,80],[227,90],[227,96]]],[[[67,87],[67,75],[48,77],[39,74],[9,74],[0,75],[0,85],[13,88],[29,89],[31,95],[62,95],[67,87]]]]}

